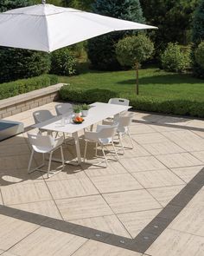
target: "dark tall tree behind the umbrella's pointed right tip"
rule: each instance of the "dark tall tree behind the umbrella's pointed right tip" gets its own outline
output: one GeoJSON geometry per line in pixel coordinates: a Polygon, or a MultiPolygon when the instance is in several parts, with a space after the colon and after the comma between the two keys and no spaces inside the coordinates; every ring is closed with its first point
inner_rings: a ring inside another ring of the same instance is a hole
{"type": "Polygon", "coordinates": [[[148,31],[156,45],[156,53],[170,42],[185,45],[191,42],[191,23],[199,1],[140,0],[147,23],[159,28],[148,31]]]}

